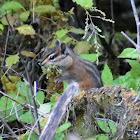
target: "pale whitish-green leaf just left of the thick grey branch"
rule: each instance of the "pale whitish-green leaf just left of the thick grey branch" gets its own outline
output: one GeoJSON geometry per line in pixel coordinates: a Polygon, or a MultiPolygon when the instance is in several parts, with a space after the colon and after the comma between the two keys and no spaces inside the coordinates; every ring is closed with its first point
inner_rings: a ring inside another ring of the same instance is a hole
{"type": "Polygon", "coordinates": [[[51,103],[40,104],[38,111],[40,112],[40,114],[47,114],[50,113],[51,107],[51,103]]]}

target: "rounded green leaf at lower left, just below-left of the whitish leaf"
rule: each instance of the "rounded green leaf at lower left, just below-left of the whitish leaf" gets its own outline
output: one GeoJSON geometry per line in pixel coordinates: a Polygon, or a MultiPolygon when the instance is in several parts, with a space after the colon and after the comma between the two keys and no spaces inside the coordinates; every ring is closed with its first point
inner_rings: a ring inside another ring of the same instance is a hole
{"type": "Polygon", "coordinates": [[[32,118],[32,115],[29,111],[26,112],[25,114],[21,115],[20,120],[24,123],[27,123],[27,124],[33,123],[33,118],[32,118]]]}

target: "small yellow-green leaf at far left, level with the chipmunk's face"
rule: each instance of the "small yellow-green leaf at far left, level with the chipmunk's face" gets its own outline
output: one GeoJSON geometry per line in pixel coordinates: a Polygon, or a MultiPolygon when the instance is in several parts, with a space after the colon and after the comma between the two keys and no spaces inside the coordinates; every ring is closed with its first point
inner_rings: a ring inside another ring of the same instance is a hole
{"type": "Polygon", "coordinates": [[[6,64],[11,67],[12,65],[16,64],[19,61],[19,56],[16,55],[10,55],[6,58],[6,64]]]}

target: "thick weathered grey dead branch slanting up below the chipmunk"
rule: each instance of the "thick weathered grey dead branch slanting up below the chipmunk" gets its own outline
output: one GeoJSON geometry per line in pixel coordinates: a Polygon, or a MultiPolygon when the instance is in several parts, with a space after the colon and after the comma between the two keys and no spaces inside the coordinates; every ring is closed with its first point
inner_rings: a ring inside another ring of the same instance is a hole
{"type": "Polygon", "coordinates": [[[77,92],[78,84],[74,83],[68,86],[63,95],[57,102],[54,110],[52,111],[47,124],[45,125],[39,140],[52,140],[56,130],[63,119],[68,104],[71,102],[74,93],[77,92]]]}

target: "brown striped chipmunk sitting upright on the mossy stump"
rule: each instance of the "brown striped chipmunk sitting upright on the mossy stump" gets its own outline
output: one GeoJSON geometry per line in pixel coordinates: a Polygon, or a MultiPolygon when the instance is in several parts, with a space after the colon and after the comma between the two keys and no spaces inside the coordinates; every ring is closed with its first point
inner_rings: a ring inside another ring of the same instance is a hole
{"type": "Polygon", "coordinates": [[[55,82],[65,81],[68,85],[72,82],[79,84],[79,92],[90,88],[102,87],[100,74],[96,66],[80,58],[65,43],[56,41],[53,48],[49,48],[42,62],[44,67],[57,65],[62,73],[56,77],[55,82]]]}

